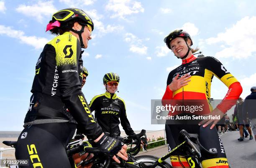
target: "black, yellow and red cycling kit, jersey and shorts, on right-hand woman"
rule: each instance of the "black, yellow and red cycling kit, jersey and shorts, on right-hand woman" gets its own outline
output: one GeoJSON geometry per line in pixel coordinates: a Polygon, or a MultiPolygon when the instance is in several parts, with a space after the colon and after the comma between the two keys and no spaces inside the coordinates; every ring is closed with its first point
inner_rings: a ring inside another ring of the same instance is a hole
{"type": "MultiPolygon", "coordinates": [[[[165,105],[168,103],[166,100],[172,99],[182,99],[182,100],[203,100],[207,101],[209,104],[209,111],[212,110],[210,106],[210,88],[213,76],[218,77],[227,87],[228,93],[224,97],[223,100],[231,100],[231,101],[223,101],[217,107],[223,113],[225,113],[228,109],[230,109],[235,103],[240,94],[242,93],[242,87],[240,83],[237,81],[235,77],[233,77],[230,72],[214,57],[202,57],[196,58],[192,55],[188,59],[182,60],[182,65],[172,70],[169,73],[167,79],[167,87],[162,98],[162,104],[165,105]],[[186,86],[182,88],[172,91],[169,89],[169,84],[171,84],[172,80],[179,73],[179,78],[183,75],[189,73],[191,77],[189,78],[191,81],[188,82],[186,86]]],[[[173,112],[173,111],[172,111],[173,112]]],[[[206,110],[208,113],[208,111],[206,110]]],[[[189,113],[189,111],[188,111],[189,113]]],[[[177,115],[177,111],[173,113],[169,113],[169,115],[177,115]]],[[[166,120],[167,121],[167,120],[166,120]]],[[[212,130],[208,125],[206,128],[202,128],[198,124],[188,125],[188,124],[167,124],[166,122],[166,138],[169,146],[169,150],[177,146],[180,142],[178,140],[179,131],[182,129],[187,130],[189,133],[197,133],[200,137],[200,142],[208,151],[217,151],[218,155],[214,158],[207,158],[202,153],[202,167],[204,168],[228,168],[228,161],[225,155],[225,150],[223,144],[221,142],[220,137],[218,136],[216,128],[212,130]]],[[[179,162],[179,157],[171,156],[172,166],[189,166],[189,163],[186,159],[181,160],[182,164],[179,162]]]]}

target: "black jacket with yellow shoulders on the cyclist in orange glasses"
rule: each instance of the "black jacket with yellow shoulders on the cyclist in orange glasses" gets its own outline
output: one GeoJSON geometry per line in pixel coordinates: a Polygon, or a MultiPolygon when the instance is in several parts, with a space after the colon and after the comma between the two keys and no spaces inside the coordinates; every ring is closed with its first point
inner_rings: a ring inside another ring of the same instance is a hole
{"type": "Polygon", "coordinates": [[[127,135],[134,134],[133,129],[127,119],[125,102],[116,94],[105,92],[92,98],[90,102],[91,111],[95,111],[95,118],[104,132],[117,133],[120,135],[119,124],[127,135]],[[119,121],[120,118],[120,121],[119,121]]]}

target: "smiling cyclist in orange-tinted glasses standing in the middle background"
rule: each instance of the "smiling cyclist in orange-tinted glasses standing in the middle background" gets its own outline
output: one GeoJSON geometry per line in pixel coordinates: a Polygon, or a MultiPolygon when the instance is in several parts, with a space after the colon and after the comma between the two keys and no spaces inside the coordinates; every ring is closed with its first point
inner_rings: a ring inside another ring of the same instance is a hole
{"type": "Polygon", "coordinates": [[[103,84],[106,92],[92,98],[90,110],[95,111],[95,119],[103,132],[110,133],[110,136],[114,136],[114,133],[120,136],[120,122],[127,135],[135,135],[126,116],[125,102],[115,94],[119,82],[118,74],[113,72],[105,74],[103,84]]]}

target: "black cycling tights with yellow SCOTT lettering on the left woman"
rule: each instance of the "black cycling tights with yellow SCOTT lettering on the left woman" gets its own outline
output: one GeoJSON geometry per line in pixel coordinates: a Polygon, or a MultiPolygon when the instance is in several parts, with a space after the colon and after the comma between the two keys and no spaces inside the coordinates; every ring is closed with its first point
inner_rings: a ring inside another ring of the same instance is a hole
{"type": "Polygon", "coordinates": [[[72,139],[76,124],[48,123],[28,125],[20,133],[15,157],[28,159],[21,168],[71,168],[66,146],[72,139]]]}

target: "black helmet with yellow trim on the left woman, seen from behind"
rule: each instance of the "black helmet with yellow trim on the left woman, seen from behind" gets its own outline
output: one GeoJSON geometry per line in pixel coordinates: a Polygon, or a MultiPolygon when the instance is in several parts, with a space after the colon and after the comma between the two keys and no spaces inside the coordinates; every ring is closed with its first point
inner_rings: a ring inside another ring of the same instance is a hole
{"type": "Polygon", "coordinates": [[[50,23],[53,23],[54,21],[58,21],[60,22],[60,25],[65,26],[65,24],[67,24],[70,20],[75,20],[75,19],[77,20],[77,22],[79,22],[80,25],[82,25],[82,29],[80,31],[77,31],[72,29],[72,27],[70,27],[69,30],[79,35],[81,47],[84,48],[84,43],[81,35],[82,32],[84,32],[84,26],[87,26],[89,27],[89,29],[91,28],[91,30],[93,30],[94,24],[90,16],[87,15],[87,13],[85,13],[83,10],[80,10],[77,8],[67,8],[64,10],[60,10],[52,15],[52,20],[50,21],[50,23]]]}

